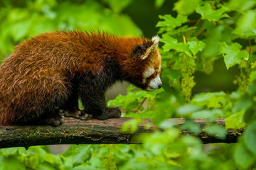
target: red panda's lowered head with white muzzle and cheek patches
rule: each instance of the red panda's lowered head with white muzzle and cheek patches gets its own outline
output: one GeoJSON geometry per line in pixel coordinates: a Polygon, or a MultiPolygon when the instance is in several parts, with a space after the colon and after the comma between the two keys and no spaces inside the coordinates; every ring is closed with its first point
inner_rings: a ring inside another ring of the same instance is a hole
{"type": "Polygon", "coordinates": [[[132,70],[132,84],[146,91],[154,91],[161,88],[161,55],[158,50],[159,37],[145,40],[142,44],[134,47],[131,58],[134,60],[132,70]]]}

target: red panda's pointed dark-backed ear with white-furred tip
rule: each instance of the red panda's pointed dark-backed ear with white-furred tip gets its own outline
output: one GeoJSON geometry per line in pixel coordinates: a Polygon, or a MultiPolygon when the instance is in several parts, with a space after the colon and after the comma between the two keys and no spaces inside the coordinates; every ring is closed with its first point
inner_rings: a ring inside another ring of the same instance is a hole
{"type": "Polygon", "coordinates": [[[156,50],[159,44],[159,37],[156,35],[147,42],[144,42],[142,45],[138,45],[135,47],[134,51],[132,52],[132,56],[138,57],[141,60],[145,60],[149,57],[149,54],[156,50]]]}

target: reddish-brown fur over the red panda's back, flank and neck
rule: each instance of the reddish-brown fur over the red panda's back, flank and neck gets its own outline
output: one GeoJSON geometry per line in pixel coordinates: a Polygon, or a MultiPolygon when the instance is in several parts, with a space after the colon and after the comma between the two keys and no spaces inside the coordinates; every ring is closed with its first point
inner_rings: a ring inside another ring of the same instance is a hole
{"type": "Polygon", "coordinates": [[[39,106],[68,100],[76,74],[100,75],[108,60],[118,62],[124,77],[142,79],[146,67],[160,64],[153,57],[131,60],[134,48],[143,42],[149,40],[71,31],[26,40],[0,68],[0,125],[12,125],[24,116],[40,118],[33,115],[41,113],[39,106]]]}

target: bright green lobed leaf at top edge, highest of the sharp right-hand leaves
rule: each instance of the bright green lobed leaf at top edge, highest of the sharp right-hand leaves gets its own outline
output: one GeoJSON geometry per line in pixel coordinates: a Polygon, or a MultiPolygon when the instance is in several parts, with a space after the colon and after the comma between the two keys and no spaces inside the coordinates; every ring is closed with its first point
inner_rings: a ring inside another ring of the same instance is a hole
{"type": "Polygon", "coordinates": [[[201,14],[202,19],[207,19],[208,21],[220,21],[221,18],[230,17],[225,13],[227,10],[228,8],[225,8],[225,6],[214,10],[208,2],[196,8],[196,12],[201,14]]]}

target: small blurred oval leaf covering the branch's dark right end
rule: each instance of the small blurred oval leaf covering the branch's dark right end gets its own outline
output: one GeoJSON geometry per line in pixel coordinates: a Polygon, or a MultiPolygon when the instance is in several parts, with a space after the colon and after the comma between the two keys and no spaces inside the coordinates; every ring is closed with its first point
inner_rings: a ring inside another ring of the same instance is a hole
{"type": "Polygon", "coordinates": [[[225,139],[226,131],[225,128],[223,128],[220,125],[210,125],[205,128],[204,130],[208,135],[213,135],[221,140],[225,139]]]}

